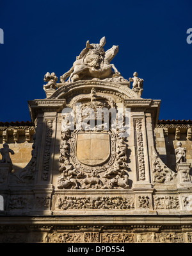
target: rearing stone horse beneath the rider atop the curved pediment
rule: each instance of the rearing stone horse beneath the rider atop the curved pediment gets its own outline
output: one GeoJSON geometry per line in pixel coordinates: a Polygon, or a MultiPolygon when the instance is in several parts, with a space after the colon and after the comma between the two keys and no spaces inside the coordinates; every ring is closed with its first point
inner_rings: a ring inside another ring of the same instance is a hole
{"type": "Polygon", "coordinates": [[[114,74],[112,68],[114,69],[115,74],[119,76],[120,73],[116,69],[115,65],[110,64],[111,60],[113,60],[117,53],[118,46],[113,46],[110,49],[108,49],[108,51],[106,51],[106,53],[104,53],[103,55],[103,60],[100,62],[99,69],[94,70],[92,69],[91,65],[84,63],[84,58],[76,60],[72,68],[60,77],[61,83],[65,83],[68,77],[68,82],[83,80],[85,76],[100,79],[110,78],[114,74]]]}

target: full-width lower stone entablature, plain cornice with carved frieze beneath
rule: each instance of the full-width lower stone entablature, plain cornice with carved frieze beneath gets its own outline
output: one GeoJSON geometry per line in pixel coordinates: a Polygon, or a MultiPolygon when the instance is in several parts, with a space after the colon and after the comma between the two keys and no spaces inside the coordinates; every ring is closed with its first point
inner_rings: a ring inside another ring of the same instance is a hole
{"type": "Polygon", "coordinates": [[[0,243],[192,243],[189,216],[98,216],[94,225],[92,219],[49,216],[45,223],[25,216],[21,225],[20,216],[0,216],[0,243]]]}

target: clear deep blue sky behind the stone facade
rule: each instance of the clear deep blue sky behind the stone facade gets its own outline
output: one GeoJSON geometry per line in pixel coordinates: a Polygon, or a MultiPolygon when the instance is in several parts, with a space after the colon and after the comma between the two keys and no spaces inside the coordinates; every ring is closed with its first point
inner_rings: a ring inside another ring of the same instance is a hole
{"type": "Polygon", "coordinates": [[[72,67],[86,41],[106,37],[124,78],[137,71],[142,98],[161,99],[159,119],[192,119],[191,0],[10,0],[0,3],[0,121],[31,121],[28,100],[45,98],[44,74],[72,67]]]}

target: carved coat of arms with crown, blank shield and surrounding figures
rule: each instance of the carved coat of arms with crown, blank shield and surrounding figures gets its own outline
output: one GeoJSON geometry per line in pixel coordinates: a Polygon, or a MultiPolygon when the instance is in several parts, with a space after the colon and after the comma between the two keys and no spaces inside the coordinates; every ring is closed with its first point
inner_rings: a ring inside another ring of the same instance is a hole
{"type": "Polygon", "coordinates": [[[86,130],[83,130],[83,126],[80,125],[78,126],[80,130],[76,127],[74,131],[70,131],[67,115],[62,117],[59,159],[61,175],[58,177],[58,189],[129,188],[127,144],[125,138],[121,137],[124,132],[124,119],[118,115],[117,130],[112,124],[111,129],[106,130],[107,123],[95,126],[95,116],[103,122],[105,112],[102,115],[102,109],[104,107],[110,109],[113,102],[109,102],[108,98],[101,99],[94,88],[88,96],[77,97],[72,103],[73,106],[77,100],[83,100],[83,102],[74,109],[76,122],[79,125],[90,118],[90,124],[86,126],[86,130]],[[92,108],[90,115],[83,112],[87,107],[92,108]],[[81,121],[79,121],[80,117],[81,121]]]}

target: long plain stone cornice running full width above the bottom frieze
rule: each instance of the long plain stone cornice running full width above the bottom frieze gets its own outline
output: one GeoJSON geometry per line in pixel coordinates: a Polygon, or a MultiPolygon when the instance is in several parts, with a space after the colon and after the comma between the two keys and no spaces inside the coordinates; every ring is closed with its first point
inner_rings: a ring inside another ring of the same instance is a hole
{"type": "MultiPolygon", "coordinates": [[[[189,225],[192,216],[164,215],[163,216],[0,216],[1,225],[189,225]]],[[[192,226],[191,226],[192,228],[192,226]]]]}

